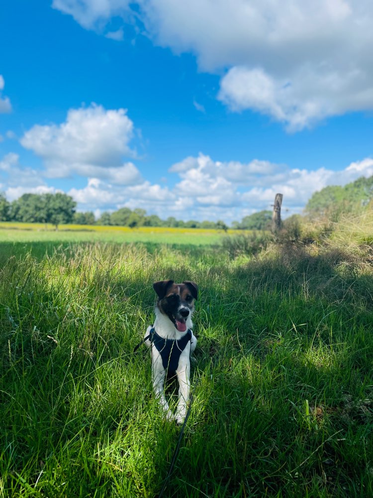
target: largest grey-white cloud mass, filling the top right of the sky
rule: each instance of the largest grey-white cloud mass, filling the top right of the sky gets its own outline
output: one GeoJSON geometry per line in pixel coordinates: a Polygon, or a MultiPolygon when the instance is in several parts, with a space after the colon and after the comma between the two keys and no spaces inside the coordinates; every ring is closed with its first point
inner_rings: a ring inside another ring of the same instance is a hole
{"type": "MultiPolygon", "coordinates": [[[[221,74],[218,98],[295,131],[328,116],[373,109],[369,0],[54,0],[85,28],[140,18],[146,32],[200,69],[221,74]]],[[[100,27],[100,29],[98,29],[100,27]]]]}

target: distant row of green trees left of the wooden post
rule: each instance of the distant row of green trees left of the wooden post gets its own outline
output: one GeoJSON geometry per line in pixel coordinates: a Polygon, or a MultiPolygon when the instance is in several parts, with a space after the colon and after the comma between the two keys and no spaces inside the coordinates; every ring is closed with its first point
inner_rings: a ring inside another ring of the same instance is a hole
{"type": "MultiPolygon", "coordinates": [[[[271,211],[260,211],[245,216],[241,222],[234,221],[231,228],[237,230],[268,230],[271,224],[271,211]]],[[[222,221],[177,220],[170,216],[162,220],[157,215],[148,215],[144,209],[120,208],[112,213],[104,212],[95,220],[91,211],[76,211],[76,202],[67,194],[23,194],[13,202],[8,202],[0,192],[0,221],[23,223],[51,223],[56,228],[60,224],[112,225],[122,227],[170,227],[202,228],[226,231],[229,227],[222,221]]]]}

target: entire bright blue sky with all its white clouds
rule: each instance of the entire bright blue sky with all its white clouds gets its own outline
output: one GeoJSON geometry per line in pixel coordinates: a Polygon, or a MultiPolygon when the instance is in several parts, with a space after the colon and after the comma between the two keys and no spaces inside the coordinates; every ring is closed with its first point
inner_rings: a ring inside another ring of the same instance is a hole
{"type": "Polygon", "coordinates": [[[0,190],[240,220],[373,174],[370,1],[0,5],[0,190]]]}

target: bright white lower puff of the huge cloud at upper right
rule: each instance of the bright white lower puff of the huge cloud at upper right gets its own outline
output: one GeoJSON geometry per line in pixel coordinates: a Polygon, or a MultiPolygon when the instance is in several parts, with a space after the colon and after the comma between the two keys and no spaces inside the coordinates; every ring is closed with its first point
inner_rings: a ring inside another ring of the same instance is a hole
{"type": "Polygon", "coordinates": [[[261,68],[235,66],[222,78],[218,98],[232,111],[252,109],[297,131],[328,116],[373,109],[373,93],[362,85],[364,79],[357,68],[339,74],[301,67],[287,80],[261,68]]]}

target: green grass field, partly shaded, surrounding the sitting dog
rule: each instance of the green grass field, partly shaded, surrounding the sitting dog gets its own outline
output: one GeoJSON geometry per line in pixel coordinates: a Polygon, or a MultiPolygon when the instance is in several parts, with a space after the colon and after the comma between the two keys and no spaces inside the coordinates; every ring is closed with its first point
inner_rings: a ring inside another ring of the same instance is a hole
{"type": "Polygon", "coordinates": [[[0,233],[1,497],[158,495],[180,428],[148,351],[132,351],[164,278],[200,288],[194,401],[164,496],[373,496],[371,246],[234,259],[208,236],[57,234],[0,233]]]}

